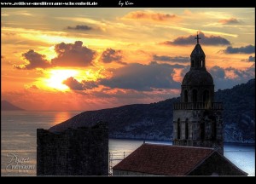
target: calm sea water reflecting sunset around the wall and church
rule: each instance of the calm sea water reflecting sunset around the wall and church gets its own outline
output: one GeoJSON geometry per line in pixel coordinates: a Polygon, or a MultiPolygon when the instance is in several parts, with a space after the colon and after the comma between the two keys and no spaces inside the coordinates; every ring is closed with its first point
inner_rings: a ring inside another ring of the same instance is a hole
{"type": "MultiPolygon", "coordinates": [[[[36,175],[37,129],[49,129],[80,112],[1,112],[1,175],[36,175]],[[18,164],[15,163],[18,162],[18,164]],[[21,166],[23,165],[23,166],[21,166]],[[26,168],[25,168],[26,167],[26,168]]],[[[168,141],[146,141],[170,144],[168,141]]],[[[113,167],[129,155],[143,141],[109,140],[113,167]]],[[[225,144],[224,156],[248,175],[255,175],[255,147],[241,144],[225,144]]]]}

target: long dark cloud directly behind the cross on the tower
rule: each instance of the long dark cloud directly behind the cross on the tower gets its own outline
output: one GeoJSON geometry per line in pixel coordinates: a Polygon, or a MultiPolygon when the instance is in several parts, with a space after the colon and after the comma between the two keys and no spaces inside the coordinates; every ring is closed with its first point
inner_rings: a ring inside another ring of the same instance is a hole
{"type": "MultiPolygon", "coordinates": [[[[230,41],[227,40],[224,37],[216,37],[216,36],[206,36],[203,32],[199,33],[199,36],[201,37],[200,43],[204,45],[230,45],[230,41]]],[[[177,37],[173,41],[166,41],[164,43],[165,45],[189,45],[189,44],[195,44],[195,35],[190,35],[189,37],[177,37]]]]}

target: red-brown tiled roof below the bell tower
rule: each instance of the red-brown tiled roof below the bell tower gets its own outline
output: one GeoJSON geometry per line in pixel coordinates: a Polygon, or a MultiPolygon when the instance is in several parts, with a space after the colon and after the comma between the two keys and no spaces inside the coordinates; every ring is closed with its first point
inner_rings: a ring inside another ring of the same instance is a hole
{"type": "Polygon", "coordinates": [[[153,175],[186,175],[214,152],[206,147],[177,147],[143,144],[113,170],[127,170],[153,175]]]}

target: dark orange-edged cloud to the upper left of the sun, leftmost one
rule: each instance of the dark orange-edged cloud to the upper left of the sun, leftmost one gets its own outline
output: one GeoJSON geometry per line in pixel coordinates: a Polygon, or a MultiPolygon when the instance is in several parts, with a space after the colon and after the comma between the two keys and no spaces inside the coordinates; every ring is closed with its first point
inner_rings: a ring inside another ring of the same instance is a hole
{"type": "Polygon", "coordinates": [[[14,67],[17,69],[32,70],[35,68],[47,68],[50,66],[49,61],[45,60],[45,55],[40,55],[33,49],[30,49],[26,53],[23,53],[22,56],[25,60],[27,60],[27,64],[19,66],[15,65],[14,67]]]}

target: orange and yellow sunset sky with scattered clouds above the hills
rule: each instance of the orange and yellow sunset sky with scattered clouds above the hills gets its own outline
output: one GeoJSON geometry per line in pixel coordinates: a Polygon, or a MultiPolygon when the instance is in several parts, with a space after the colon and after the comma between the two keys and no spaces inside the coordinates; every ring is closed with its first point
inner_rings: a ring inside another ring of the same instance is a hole
{"type": "Polygon", "coordinates": [[[255,78],[255,9],[1,9],[2,100],[87,111],[180,95],[196,32],[215,90],[255,78]]]}

